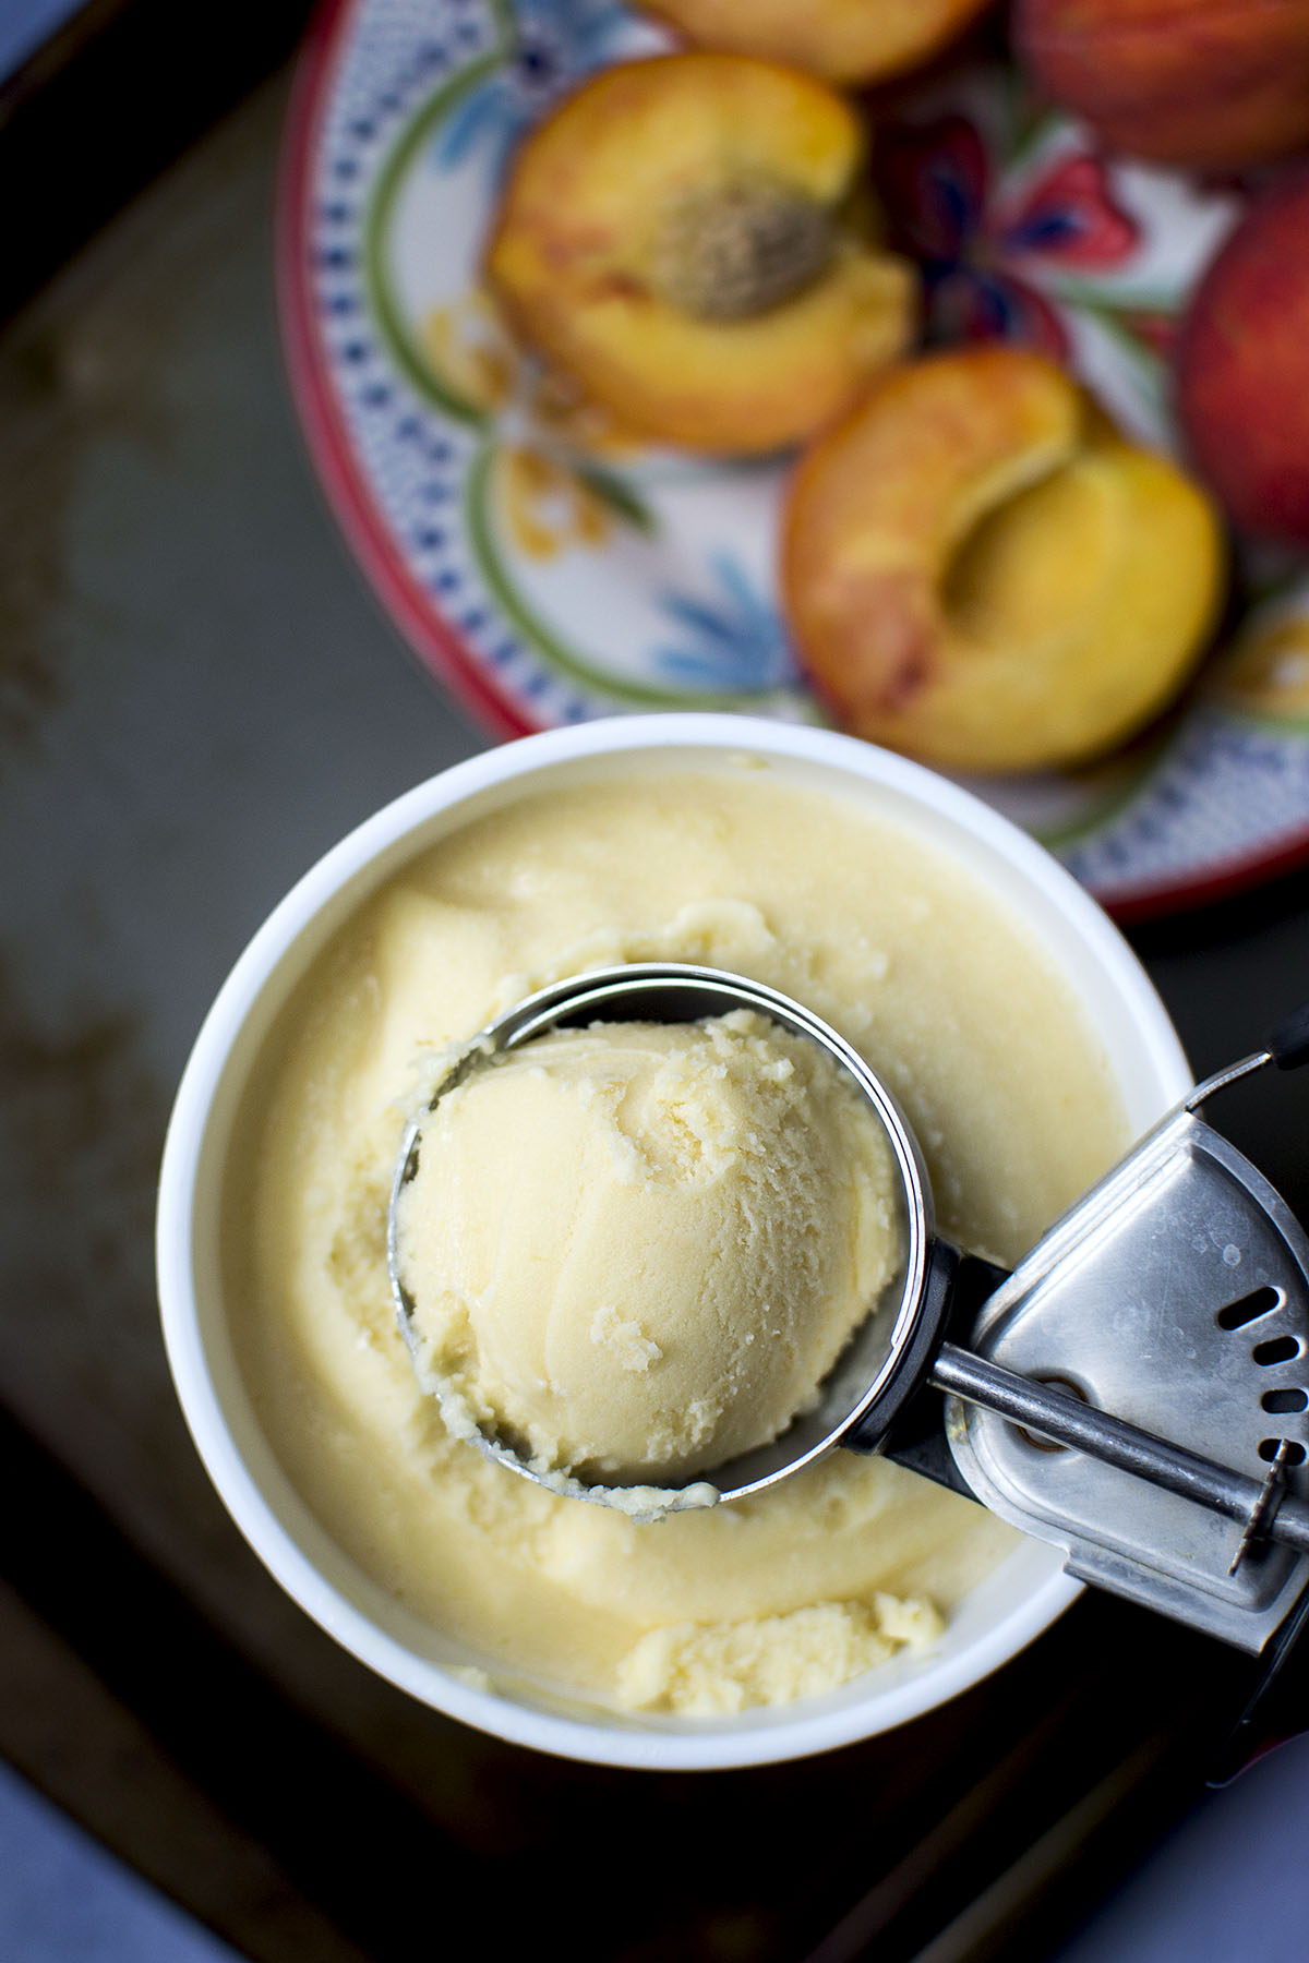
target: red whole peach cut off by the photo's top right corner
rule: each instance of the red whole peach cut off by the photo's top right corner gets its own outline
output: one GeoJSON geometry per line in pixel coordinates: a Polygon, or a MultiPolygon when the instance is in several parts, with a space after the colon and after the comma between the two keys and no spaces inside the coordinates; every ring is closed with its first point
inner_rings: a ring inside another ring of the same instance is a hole
{"type": "Polygon", "coordinates": [[[1309,0],[1017,0],[1015,45],[1136,157],[1236,169],[1309,141],[1309,0]]]}

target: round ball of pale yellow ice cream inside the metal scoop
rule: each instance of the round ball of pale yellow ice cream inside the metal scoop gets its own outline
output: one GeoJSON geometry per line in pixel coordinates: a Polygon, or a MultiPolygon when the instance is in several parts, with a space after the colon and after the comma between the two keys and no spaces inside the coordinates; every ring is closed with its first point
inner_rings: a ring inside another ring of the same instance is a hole
{"type": "Polygon", "coordinates": [[[763,1017],[555,1031],[424,1123],[420,1372],[538,1464],[710,1470],[812,1406],[893,1272],[893,1192],[860,1091],[763,1017]]]}

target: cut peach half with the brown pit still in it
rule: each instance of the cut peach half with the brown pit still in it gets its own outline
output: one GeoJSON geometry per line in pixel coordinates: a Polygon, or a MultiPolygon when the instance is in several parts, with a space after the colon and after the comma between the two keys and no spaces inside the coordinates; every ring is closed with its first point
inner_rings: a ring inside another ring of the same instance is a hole
{"type": "Polygon", "coordinates": [[[518,336],[626,428],[779,450],[913,332],[915,275],[862,222],[862,167],[854,110],[809,75],[620,63],[522,143],[487,275],[518,336]]]}

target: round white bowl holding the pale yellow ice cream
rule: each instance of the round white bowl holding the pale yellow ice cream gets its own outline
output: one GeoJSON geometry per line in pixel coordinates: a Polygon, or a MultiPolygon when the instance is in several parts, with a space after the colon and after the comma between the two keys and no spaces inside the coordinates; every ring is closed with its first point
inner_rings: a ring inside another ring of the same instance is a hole
{"type": "MultiPolygon", "coordinates": [[[[1105,1044],[1128,1123],[1144,1131],[1191,1088],[1176,1031],[1107,915],[1024,832],[905,758],[828,730],[728,715],[657,715],[550,730],[471,758],[387,805],[283,899],[224,983],[183,1076],[157,1221],[159,1300],[173,1378],[204,1464],[281,1586],[355,1657],[420,1702],[518,1745],[606,1765],[722,1769],[848,1745],[946,1702],[1017,1655],[1075,1598],[1058,1553],[1024,1541],[950,1618],[928,1655],[836,1692],[730,1718],[565,1706],[530,1682],[487,1688],[483,1659],[422,1623],[314,1519],[259,1429],[236,1364],[220,1260],[234,1121],[273,1019],[328,940],[412,856],[471,819],[634,762],[712,766],[742,754],[781,781],[865,801],[950,854],[1026,923],[1105,1044]]],[[[657,1531],[657,1529],[654,1529],[657,1531]]]]}

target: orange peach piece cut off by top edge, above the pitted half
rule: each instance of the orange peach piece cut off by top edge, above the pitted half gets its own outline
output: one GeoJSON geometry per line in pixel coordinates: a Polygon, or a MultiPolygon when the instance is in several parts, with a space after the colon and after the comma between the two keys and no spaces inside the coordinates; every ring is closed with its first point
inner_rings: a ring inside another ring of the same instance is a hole
{"type": "Polygon", "coordinates": [[[763,55],[826,77],[873,82],[928,61],[991,0],[642,0],[642,12],[697,47],[763,55]]]}

